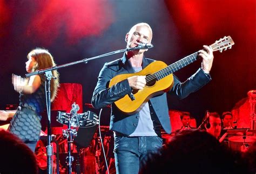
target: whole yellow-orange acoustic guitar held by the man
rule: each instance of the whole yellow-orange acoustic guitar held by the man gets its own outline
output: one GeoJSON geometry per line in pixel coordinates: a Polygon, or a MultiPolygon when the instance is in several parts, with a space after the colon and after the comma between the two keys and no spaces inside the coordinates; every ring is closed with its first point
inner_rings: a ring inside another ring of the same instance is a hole
{"type": "MultiPolygon", "coordinates": [[[[234,42],[230,36],[215,41],[210,47],[213,51],[231,49],[234,42]]],[[[173,73],[198,59],[198,52],[184,57],[183,59],[167,66],[164,62],[154,61],[146,68],[133,74],[120,74],[113,77],[109,87],[123,81],[131,76],[146,76],[146,85],[142,90],[133,90],[133,96],[125,95],[114,104],[118,109],[126,114],[139,112],[150,98],[169,91],[173,86],[173,73]]]]}

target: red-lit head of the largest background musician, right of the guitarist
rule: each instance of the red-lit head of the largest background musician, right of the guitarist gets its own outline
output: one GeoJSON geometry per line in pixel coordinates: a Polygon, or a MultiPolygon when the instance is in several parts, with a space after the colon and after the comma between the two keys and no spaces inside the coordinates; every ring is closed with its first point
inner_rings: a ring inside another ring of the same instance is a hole
{"type": "Polygon", "coordinates": [[[208,117],[205,123],[206,132],[219,139],[221,131],[220,115],[217,112],[210,112],[206,117],[208,117]]]}

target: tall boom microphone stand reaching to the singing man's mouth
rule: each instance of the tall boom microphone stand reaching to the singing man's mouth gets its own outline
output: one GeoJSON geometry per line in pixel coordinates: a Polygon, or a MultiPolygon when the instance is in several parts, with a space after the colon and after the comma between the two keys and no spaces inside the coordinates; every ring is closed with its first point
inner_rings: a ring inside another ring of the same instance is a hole
{"type": "MultiPolygon", "coordinates": [[[[48,126],[48,134],[47,134],[47,146],[46,146],[46,154],[47,154],[47,173],[51,174],[52,173],[52,165],[51,165],[51,161],[52,161],[52,146],[51,146],[51,90],[50,90],[50,84],[51,84],[51,78],[55,78],[52,76],[52,72],[53,70],[57,70],[60,68],[64,68],[64,67],[69,67],[69,66],[73,66],[75,64],[78,63],[88,63],[91,60],[95,60],[95,59],[99,59],[101,57],[105,57],[105,56],[109,56],[109,55],[113,55],[113,54],[118,54],[118,53],[123,53],[123,52],[130,52],[132,50],[136,50],[136,49],[150,49],[153,48],[152,44],[140,44],[136,47],[133,48],[126,48],[126,49],[119,49],[113,52],[109,52],[109,53],[105,53],[102,55],[98,55],[95,57],[90,57],[88,59],[82,59],[79,61],[75,61],[75,62],[70,62],[70,63],[66,63],[66,64],[62,64],[60,66],[55,66],[55,67],[50,67],[50,68],[46,68],[46,69],[42,69],[42,70],[37,70],[35,72],[32,73],[28,73],[25,74],[26,77],[30,77],[33,75],[39,75],[39,74],[45,74],[45,95],[46,95],[46,110],[47,110],[47,114],[48,114],[48,121],[47,121],[47,126],[48,126]]],[[[57,169],[58,170],[58,169],[57,169]]]]}

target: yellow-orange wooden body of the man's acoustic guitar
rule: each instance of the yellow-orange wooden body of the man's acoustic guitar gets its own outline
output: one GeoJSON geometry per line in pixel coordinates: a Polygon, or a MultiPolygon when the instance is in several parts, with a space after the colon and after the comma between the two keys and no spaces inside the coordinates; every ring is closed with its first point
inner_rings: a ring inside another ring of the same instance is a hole
{"type": "MultiPolygon", "coordinates": [[[[138,73],[120,74],[116,77],[113,77],[110,81],[109,87],[132,76],[149,76],[166,67],[167,65],[164,62],[154,61],[138,73]]],[[[120,98],[114,102],[114,104],[116,104],[120,111],[130,115],[134,114],[139,112],[150,98],[169,91],[172,88],[173,83],[173,75],[170,74],[158,81],[154,81],[153,84],[147,83],[145,88],[142,90],[133,90],[132,93],[135,98],[134,100],[132,100],[129,95],[125,95],[123,98],[120,98]]]]}

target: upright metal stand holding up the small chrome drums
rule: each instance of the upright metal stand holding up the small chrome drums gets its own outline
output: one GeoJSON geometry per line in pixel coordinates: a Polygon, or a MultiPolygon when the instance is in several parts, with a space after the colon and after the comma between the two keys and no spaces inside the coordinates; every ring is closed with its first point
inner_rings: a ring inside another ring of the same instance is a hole
{"type": "Polygon", "coordinates": [[[70,117],[68,119],[68,129],[63,130],[63,136],[65,136],[68,140],[68,156],[66,157],[66,164],[69,168],[69,174],[72,172],[72,162],[74,161],[74,157],[71,156],[71,143],[73,143],[73,137],[77,136],[76,129],[71,129],[71,119],[73,117],[73,114],[70,113],[70,117]]]}

